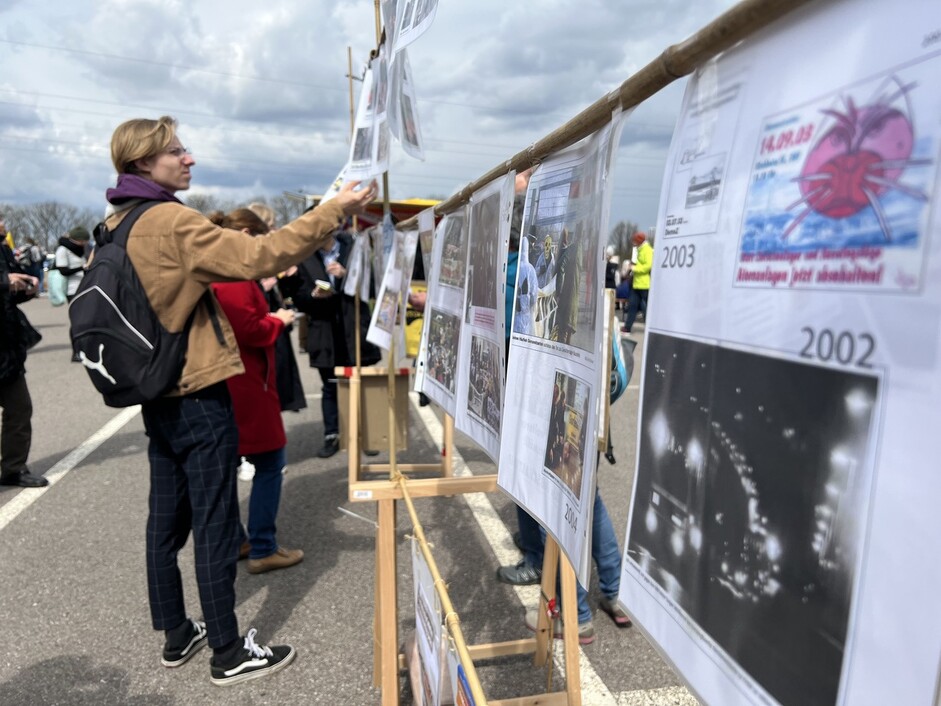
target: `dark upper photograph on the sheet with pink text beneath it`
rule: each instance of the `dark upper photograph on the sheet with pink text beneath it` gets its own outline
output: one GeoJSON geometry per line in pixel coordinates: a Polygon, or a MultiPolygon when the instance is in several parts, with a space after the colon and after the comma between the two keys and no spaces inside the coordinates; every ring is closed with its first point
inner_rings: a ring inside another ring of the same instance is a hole
{"type": "Polygon", "coordinates": [[[467,321],[474,309],[497,308],[497,248],[500,193],[470,206],[470,257],[467,263],[467,321]]]}

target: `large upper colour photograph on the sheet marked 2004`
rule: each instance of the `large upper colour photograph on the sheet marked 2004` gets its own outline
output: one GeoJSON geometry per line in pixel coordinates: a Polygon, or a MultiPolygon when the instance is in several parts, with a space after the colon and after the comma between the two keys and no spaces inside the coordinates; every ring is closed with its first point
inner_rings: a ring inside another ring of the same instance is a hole
{"type": "Polygon", "coordinates": [[[595,263],[601,257],[601,238],[600,215],[590,207],[595,197],[591,184],[581,180],[584,172],[579,167],[553,174],[530,188],[518,275],[526,277],[521,280],[526,292],[518,296],[526,296],[527,303],[518,307],[513,327],[590,351],[600,291],[595,263]]]}

